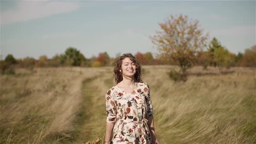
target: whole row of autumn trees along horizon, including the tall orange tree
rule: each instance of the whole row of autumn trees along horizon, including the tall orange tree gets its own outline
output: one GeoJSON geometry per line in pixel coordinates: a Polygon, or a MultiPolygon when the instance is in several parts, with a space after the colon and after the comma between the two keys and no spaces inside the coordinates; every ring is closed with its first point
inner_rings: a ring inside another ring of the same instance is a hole
{"type": "MultiPolygon", "coordinates": [[[[207,69],[208,65],[220,68],[256,67],[256,45],[236,55],[222,46],[215,37],[208,44],[208,33],[204,35],[198,20],[189,21],[188,17],[182,14],[171,15],[164,23],[159,23],[159,26],[161,31],[150,37],[155,48],[158,49],[158,55],[154,58],[151,52],[137,52],[135,57],[141,65],[178,65],[182,75],[186,75],[187,69],[194,65],[203,65],[204,69],[207,69]]],[[[119,56],[121,54],[112,58],[107,52],[100,52],[97,57],[85,58],[78,49],[73,47],[67,48],[64,53],[56,54],[52,58],[40,56],[39,59],[33,57],[15,59],[12,54],[9,54],[0,61],[0,70],[5,73],[12,72],[11,69],[16,67],[33,69],[59,66],[113,66],[119,56]]]]}

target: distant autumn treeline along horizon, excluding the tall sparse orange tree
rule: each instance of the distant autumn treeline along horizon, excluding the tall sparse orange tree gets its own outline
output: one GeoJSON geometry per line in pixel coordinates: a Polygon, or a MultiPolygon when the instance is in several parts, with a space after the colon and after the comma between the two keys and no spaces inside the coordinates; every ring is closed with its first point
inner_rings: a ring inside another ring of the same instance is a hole
{"type": "MultiPolygon", "coordinates": [[[[107,52],[101,52],[98,56],[92,56],[86,59],[79,50],[69,47],[63,54],[55,55],[51,59],[47,56],[40,56],[39,59],[26,57],[24,59],[15,59],[12,54],[6,56],[0,61],[1,71],[4,72],[11,66],[18,68],[33,69],[34,67],[59,67],[59,66],[81,66],[81,67],[100,67],[113,66],[116,59],[120,56],[112,58],[107,52]]],[[[151,52],[137,52],[135,57],[139,59],[141,65],[177,65],[171,59],[158,55],[153,57],[151,52]]],[[[244,53],[239,52],[237,55],[229,52],[216,38],[213,38],[206,51],[199,52],[196,56],[196,65],[203,66],[256,66],[256,45],[250,49],[246,49],[244,53]]]]}

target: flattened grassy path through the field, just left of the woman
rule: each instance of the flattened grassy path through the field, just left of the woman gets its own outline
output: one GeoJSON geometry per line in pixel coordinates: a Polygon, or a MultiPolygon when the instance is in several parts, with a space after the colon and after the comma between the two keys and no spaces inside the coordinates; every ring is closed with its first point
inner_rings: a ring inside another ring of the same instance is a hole
{"type": "Polygon", "coordinates": [[[75,121],[75,143],[105,138],[105,93],[113,86],[112,79],[111,73],[101,72],[83,81],[81,109],[75,121]]]}

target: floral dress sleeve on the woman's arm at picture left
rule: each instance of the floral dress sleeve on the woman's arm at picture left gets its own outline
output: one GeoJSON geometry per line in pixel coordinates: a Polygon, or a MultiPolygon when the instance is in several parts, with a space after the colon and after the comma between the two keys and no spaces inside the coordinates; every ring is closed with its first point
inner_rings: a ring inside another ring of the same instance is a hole
{"type": "Polygon", "coordinates": [[[106,98],[106,114],[107,114],[107,122],[115,123],[116,121],[116,98],[113,89],[109,89],[105,95],[106,98]]]}

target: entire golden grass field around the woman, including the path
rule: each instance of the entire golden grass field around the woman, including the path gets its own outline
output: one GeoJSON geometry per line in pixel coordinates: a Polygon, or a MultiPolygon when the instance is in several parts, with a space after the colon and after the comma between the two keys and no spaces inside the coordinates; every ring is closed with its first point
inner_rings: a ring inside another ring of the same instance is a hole
{"type": "MultiPolygon", "coordinates": [[[[256,143],[256,69],[142,66],[161,144],[256,143]],[[176,67],[174,67],[176,68],[176,67]]],[[[112,67],[16,69],[0,77],[0,144],[82,144],[104,138],[112,67]]]]}

